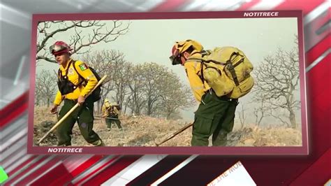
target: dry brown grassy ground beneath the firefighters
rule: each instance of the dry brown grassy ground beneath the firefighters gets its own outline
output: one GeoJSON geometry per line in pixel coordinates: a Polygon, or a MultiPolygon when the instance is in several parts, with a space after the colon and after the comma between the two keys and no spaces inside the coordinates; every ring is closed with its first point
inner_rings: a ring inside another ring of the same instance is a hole
{"type": "MultiPolygon", "coordinates": [[[[35,108],[34,141],[38,141],[51,129],[57,121],[56,115],[51,115],[49,108],[35,108]]],[[[163,139],[175,133],[186,125],[181,120],[164,120],[161,118],[137,116],[120,117],[123,131],[112,124],[108,130],[105,120],[94,120],[94,131],[103,139],[106,146],[156,146],[163,139]]],[[[170,139],[161,146],[190,146],[192,127],[170,139]]],[[[284,127],[261,129],[258,127],[244,127],[235,129],[228,135],[229,146],[301,146],[302,135],[297,129],[284,127]]],[[[57,136],[53,132],[45,138],[41,146],[57,145],[57,136]]],[[[73,146],[88,146],[80,135],[77,124],[73,128],[73,146]]]]}

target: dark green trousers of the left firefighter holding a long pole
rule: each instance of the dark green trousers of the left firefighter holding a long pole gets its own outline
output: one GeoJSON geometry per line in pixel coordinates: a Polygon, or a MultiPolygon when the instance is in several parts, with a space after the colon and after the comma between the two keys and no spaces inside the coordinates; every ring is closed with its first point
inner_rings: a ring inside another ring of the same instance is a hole
{"type": "MultiPolygon", "coordinates": [[[[64,99],[64,106],[62,106],[59,112],[59,120],[61,120],[76,103],[77,101],[64,99]]],[[[71,145],[71,134],[75,122],[78,122],[80,134],[82,134],[87,143],[91,143],[92,145],[101,144],[101,138],[93,131],[93,108],[94,102],[88,98],[82,106],[76,108],[71,115],[66,117],[66,120],[57,127],[57,145],[71,145]]]]}

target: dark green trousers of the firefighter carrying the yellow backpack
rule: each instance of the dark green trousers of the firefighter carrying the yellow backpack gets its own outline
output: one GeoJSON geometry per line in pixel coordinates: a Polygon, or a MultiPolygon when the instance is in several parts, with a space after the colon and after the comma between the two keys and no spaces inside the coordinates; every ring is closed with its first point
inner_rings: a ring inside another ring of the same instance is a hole
{"type": "Polygon", "coordinates": [[[207,146],[212,136],[213,146],[226,145],[227,135],[233,130],[237,99],[218,97],[210,90],[203,95],[196,110],[192,131],[192,146],[207,146]]]}

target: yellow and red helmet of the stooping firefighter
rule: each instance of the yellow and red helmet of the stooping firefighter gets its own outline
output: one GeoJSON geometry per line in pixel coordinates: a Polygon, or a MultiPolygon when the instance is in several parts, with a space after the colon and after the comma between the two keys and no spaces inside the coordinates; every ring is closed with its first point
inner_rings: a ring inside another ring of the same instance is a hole
{"type": "Polygon", "coordinates": [[[172,47],[172,56],[169,57],[172,62],[172,65],[182,64],[180,60],[180,55],[190,47],[193,47],[194,50],[198,51],[203,50],[203,45],[198,43],[198,41],[194,41],[191,39],[188,39],[186,41],[176,41],[175,45],[172,47]]]}

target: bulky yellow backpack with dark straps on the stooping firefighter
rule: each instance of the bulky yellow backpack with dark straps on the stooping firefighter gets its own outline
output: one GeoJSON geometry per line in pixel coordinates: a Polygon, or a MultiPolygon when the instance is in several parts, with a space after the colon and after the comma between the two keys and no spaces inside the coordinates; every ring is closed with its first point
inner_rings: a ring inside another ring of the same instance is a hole
{"type": "Polygon", "coordinates": [[[217,96],[237,99],[249,93],[254,85],[250,75],[253,65],[238,48],[226,46],[203,50],[202,58],[191,57],[187,61],[202,63],[201,78],[217,96]]]}

